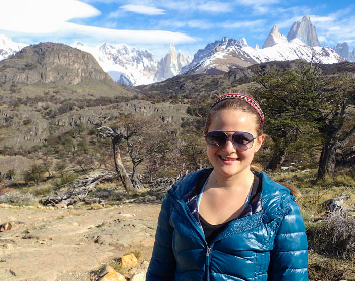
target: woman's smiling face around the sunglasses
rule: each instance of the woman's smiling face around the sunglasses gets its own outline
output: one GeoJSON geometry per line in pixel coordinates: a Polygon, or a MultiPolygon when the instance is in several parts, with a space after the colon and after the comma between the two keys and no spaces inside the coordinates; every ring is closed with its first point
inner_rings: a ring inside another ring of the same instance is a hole
{"type": "MultiPolygon", "coordinates": [[[[255,116],[241,110],[220,110],[216,112],[208,128],[208,132],[211,131],[248,132],[253,137],[256,137],[255,116]]],[[[233,132],[230,134],[233,134],[233,132]]],[[[235,175],[246,175],[250,172],[250,164],[253,161],[254,154],[260,149],[263,141],[264,135],[257,137],[254,140],[253,146],[247,150],[235,149],[231,138],[221,148],[211,148],[206,145],[207,155],[214,167],[214,172],[217,172],[224,178],[230,178],[235,175]]]]}

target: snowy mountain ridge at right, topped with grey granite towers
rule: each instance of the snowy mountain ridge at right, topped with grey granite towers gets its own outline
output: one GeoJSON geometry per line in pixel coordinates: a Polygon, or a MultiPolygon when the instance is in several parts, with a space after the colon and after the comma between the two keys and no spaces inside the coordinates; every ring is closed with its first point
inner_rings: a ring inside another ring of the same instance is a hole
{"type": "Polygon", "coordinates": [[[265,40],[263,49],[259,49],[258,46],[256,48],[247,46],[244,38],[238,41],[223,37],[215,43],[208,44],[203,50],[198,50],[192,63],[183,68],[183,73],[214,74],[268,61],[295,59],[311,61],[313,59],[327,64],[344,61],[344,58],[332,48],[314,46],[319,41],[315,27],[308,16],[295,22],[289,35],[286,38],[279,33],[277,25],[274,25],[265,40]],[[313,46],[301,41],[300,37],[306,38],[306,41],[313,46]]]}

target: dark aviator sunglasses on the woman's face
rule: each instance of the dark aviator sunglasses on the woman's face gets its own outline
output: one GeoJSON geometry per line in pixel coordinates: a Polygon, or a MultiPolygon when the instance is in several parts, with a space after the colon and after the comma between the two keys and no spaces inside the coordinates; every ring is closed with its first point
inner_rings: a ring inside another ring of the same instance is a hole
{"type": "Polygon", "coordinates": [[[251,133],[247,132],[235,132],[235,131],[211,131],[205,136],[206,143],[211,148],[222,148],[231,140],[235,149],[247,150],[250,149],[254,144],[254,139],[251,133]],[[233,132],[233,134],[226,134],[226,132],[233,132]]]}

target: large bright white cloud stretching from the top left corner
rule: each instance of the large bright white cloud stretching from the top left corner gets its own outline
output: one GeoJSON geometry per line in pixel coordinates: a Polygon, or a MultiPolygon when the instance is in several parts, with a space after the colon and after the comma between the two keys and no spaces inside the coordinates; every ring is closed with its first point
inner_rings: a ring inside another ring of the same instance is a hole
{"type": "MultiPolygon", "coordinates": [[[[11,37],[38,38],[64,42],[76,38],[97,44],[100,42],[127,44],[191,43],[196,40],[181,32],[165,30],[112,29],[68,22],[100,14],[89,4],[77,0],[12,0],[0,10],[0,30],[11,37]]],[[[34,43],[34,42],[32,42],[34,43]]]]}

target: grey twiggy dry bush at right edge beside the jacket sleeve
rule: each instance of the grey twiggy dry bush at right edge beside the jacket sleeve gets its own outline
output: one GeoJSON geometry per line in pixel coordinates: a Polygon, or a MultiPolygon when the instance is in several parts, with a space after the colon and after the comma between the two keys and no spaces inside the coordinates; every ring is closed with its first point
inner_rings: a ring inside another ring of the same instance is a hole
{"type": "Polygon", "coordinates": [[[329,213],[322,221],[306,225],[309,247],[339,258],[355,257],[355,219],[343,210],[329,213]]]}

